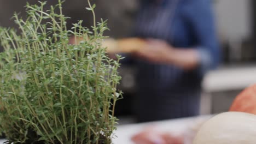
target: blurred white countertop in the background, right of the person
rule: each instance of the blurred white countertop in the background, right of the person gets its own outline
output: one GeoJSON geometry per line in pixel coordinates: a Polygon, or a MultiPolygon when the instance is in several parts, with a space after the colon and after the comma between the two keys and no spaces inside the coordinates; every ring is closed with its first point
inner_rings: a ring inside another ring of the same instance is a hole
{"type": "Polygon", "coordinates": [[[223,67],[210,71],[203,80],[205,92],[222,92],[243,89],[256,83],[256,64],[223,67]]]}

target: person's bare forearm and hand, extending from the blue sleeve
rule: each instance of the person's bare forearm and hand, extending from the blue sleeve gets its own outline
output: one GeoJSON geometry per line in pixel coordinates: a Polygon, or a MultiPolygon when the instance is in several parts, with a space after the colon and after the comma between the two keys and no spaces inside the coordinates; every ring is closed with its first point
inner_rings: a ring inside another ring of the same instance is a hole
{"type": "Polygon", "coordinates": [[[183,69],[194,69],[200,63],[197,50],[175,48],[157,39],[149,39],[146,47],[139,49],[136,56],[156,63],[173,64],[183,69]]]}

